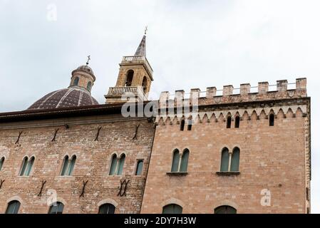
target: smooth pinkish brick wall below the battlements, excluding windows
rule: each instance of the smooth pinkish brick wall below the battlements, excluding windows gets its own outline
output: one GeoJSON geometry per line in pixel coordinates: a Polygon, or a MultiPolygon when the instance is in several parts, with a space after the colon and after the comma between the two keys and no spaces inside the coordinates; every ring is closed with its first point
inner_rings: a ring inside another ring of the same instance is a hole
{"type": "Polygon", "coordinates": [[[271,109],[258,109],[200,113],[190,131],[180,131],[180,118],[159,120],[141,212],[161,213],[176,203],[183,213],[213,213],[224,204],[238,213],[305,213],[306,115],[300,108],[273,107],[277,118],[270,127],[271,109]],[[234,118],[226,128],[228,112],[242,113],[239,128],[234,118]],[[240,148],[239,175],[217,175],[224,147],[240,148]],[[167,175],[176,148],[190,150],[187,175],[167,175]],[[260,202],[263,190],[271,193],[270,206],[260,202]]]}

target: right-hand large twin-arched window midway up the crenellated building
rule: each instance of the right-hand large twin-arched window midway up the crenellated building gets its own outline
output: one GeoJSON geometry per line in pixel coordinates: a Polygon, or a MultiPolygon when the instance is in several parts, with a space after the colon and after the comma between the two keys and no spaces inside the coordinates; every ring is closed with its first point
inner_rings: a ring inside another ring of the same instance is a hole
{"type": "Polygon", "coordinates": [[[239,172],[240,149],[234,147],[232,153],[224,147],[221,155],[220,172],[239,172]]]}

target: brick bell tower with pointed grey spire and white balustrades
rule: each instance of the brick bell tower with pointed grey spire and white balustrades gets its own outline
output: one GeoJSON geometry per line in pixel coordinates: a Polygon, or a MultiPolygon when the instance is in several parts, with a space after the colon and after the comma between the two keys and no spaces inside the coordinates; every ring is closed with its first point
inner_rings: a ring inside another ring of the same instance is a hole
{"type": "MultiPolygon", "coordinates": [[[[145,34],[146,34],[145,29],[145,34]]],[[[105,103],[123,103],[148,100],[153,68],[146,57],[146,36],[144,35],[134,56],[123,56],[115,87],[110,87],[105,95],[105,103]]]]}

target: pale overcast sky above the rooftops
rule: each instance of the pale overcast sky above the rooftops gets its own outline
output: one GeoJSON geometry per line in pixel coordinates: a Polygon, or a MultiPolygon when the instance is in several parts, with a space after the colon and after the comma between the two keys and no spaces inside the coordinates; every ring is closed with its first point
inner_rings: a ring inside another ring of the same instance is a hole
{"type": "Polygon", "coordinates": [[[319,9],[317,0],[0,0],[0,112],[68,87],[89,54],[92,94],[104,103],[118,63],[135,53],[148,25],[153,98],[162,90],[307,78],[311,212],[320,213],[319,9]]]}

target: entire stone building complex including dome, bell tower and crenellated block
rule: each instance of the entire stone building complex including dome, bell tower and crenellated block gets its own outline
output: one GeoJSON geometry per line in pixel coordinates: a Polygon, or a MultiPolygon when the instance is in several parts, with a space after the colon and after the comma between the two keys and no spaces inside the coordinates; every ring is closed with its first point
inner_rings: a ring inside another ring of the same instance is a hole
{"type": "Polygon", "coordinates": [[[104,105],[87,62],[68,88],[0,113],[0,212],[309,213],[306,78],[162,92],[153,115],[128,117],[153,81],[145,39],[104,105]]]}

